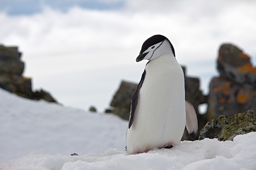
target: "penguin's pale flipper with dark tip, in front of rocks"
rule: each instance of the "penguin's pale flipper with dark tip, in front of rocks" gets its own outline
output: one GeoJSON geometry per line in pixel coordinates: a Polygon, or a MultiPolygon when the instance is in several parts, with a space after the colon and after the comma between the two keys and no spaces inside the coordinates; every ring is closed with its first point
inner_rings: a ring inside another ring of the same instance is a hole
{"type": "Polygon", "coordinates": [[[197,117],[194,106],[185,98],[186,127],[192,139],[195,139],[198,130],[197,117]]]}

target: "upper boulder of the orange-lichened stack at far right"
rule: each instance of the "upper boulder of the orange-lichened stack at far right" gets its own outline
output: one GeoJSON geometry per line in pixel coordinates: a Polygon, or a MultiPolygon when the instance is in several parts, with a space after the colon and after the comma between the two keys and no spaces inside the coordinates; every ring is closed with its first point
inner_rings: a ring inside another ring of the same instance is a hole
{"type": "Polygon", "coordinates": [[[250,63],[250,57],[231,44],[223,44],[219,49],[217,69],[220,77],[238,84],[256,83],[256,68],[250,63]]]}

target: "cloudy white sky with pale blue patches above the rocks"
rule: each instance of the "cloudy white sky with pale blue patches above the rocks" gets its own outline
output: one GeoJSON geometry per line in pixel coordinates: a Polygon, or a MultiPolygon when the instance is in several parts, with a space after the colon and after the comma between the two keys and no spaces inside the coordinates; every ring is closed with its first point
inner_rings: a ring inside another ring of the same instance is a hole
{"type": "Polygon", "coordinates": [[[0,44],[18,46],[24,76],[66,106],[104,111],[121,80],[140,81],[142,43],[165,35],[203,92],[223,43],[256,64],[254,0],[0,0],[0,44]]]}

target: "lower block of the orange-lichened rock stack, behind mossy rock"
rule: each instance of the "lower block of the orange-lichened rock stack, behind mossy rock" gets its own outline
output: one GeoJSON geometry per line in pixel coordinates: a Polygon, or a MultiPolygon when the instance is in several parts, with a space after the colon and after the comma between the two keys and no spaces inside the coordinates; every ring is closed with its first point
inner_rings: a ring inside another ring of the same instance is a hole
{"type": "Polygon", "coordinates": [[[256,110],[256,89],[249,84],[233,84],[228,80],[213,78],[210,83],[208,120],[220,115],[234,116],[236,112],[256,110]]]}

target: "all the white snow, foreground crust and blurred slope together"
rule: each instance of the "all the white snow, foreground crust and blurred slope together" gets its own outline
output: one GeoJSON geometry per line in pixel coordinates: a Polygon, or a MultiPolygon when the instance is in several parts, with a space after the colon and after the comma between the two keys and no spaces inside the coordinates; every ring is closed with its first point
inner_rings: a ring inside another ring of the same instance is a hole
{"type": "Polygon", "coordinates": [[[256,132],[128,155],[127,121],[0,89],[0,169],[256,169],[256,132]],[[113,148],[113,149],[111,149],[113,148]],[[70,156],[71,153],[80,156],[70,156]]]}

